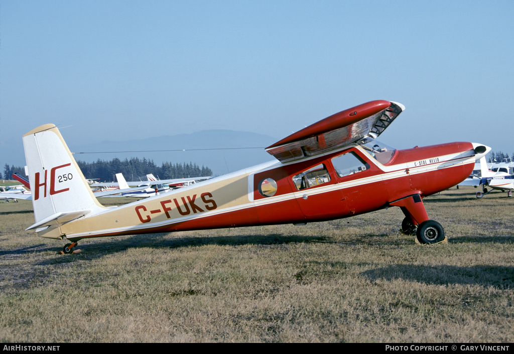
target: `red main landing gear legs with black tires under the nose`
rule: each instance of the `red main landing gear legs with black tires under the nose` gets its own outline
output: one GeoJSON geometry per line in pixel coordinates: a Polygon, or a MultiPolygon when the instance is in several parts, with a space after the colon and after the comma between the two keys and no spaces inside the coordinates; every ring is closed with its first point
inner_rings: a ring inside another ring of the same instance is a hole
{"type": "Polygon", "coordinates": [[[443,226],[437,221],[428,219],[427,210],[419,194],[389,204],[401,208],[405,215],[401,223],[402,231],[407,235],[416,233],[419,243],[439,243],[446,240],[443,226]]]}

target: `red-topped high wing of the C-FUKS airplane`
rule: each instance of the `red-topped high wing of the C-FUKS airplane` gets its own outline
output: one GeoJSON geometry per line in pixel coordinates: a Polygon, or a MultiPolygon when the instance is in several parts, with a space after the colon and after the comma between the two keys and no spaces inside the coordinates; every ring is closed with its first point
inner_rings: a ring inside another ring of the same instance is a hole
{"type": "Polygon", "coordinates": [[[384,100],[360,104],[310,125],[266,148],[280,162],[301,160],[355,143],[373,133],[380,135],[405,110],[384,100]]]}

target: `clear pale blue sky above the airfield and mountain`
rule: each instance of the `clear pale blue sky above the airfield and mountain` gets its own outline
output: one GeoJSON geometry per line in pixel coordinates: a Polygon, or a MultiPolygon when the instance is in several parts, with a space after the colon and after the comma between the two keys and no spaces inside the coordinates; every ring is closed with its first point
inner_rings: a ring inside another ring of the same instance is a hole
{"type": "Polygon", "coordinates": [[[44,123],[70,146],[281,139],[375,99],[407,108],[379,138],[391,146],[511,154],[512,19],[512,1],[2,0],[0,164],[25,164],[10,147],[44,123]]]}

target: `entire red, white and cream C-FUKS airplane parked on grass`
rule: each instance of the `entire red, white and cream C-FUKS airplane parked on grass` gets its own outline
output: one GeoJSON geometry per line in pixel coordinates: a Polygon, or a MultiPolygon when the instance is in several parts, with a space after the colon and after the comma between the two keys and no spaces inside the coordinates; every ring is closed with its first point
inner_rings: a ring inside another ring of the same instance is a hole
{"type": "Polygon", "coordinates": [[[445,238],[423,198],[469,176],[487,147],[448,143],[397,150],[376,140],[405,109],[378,100],[336,113],[266,148],[275,161],[115,208],[95,198],[59,130],[23,136],[35,229],[64,239],[269,224],[305,224],[391,206],[421,243],[445,238]]]}

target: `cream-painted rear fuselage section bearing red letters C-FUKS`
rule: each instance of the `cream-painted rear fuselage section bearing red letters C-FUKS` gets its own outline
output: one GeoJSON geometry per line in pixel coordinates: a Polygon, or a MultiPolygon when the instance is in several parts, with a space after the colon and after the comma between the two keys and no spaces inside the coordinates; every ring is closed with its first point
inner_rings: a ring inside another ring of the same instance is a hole
{"type": "MultiPolygon", "coordinates": [[[[64,224],[61,233],[71,240],[109,234],[173,231],[174,224],[251,208],[253,203],[248,198],[248,175],[242,172],[223,176],[111,208],[98,215],[64,224]]],[[[227,220],[229,226],[230,221],[227,220]]]]}

